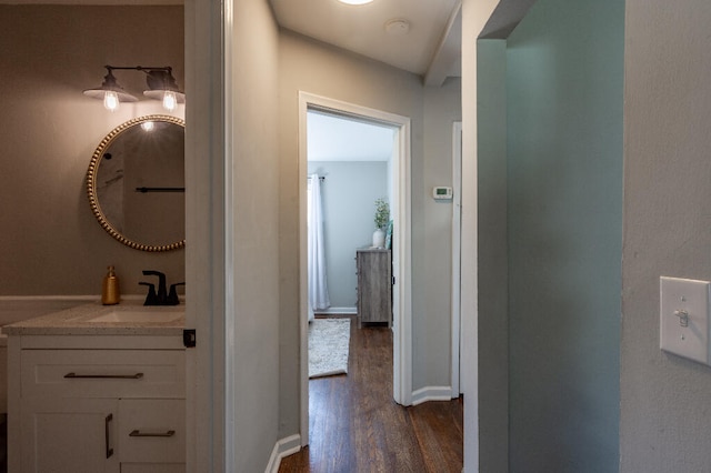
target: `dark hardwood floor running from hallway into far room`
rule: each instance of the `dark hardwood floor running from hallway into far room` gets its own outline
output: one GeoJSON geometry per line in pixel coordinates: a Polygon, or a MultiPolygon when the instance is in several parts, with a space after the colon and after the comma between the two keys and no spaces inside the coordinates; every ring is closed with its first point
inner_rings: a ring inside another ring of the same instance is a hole
{"type": "Polygon", "coordinates": [[[351,320],[348,375],[309,381],[310,445],[289,472],[461,472],[462,401],[392,400],[392,332],[351,320]]]}

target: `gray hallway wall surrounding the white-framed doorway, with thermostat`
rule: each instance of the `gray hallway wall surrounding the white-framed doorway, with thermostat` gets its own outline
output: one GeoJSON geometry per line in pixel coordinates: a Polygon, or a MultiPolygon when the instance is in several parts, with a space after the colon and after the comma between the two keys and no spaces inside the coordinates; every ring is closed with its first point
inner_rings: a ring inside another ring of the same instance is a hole
{"type": "MultiPolygon", "coordinates": [[[[299,430],[299,132],[298,92],[342,100],[412,120],[412,280],[413,389],[447,386],[450,381],[450,261],[442,240],[450,228],[441,224],[447,205],[431,205],[432,169],[449,169],[451,182],[452,122],[461,118],[459,81],[431,91],[419,77],[365,60],[288,31],[280,34],[280,304],[281,304],[281,436],[299,430]],[[439,100],[438,100],[439,99],[439,100]],[[428,121],[438,128],[428,129],[428,121]],[[441,128],[440,128],[441,127],[441,128]],[[442,131],[444,130],[444,131],[442,131]],[[441,137],[445,133],[444,137],[441,137]],[[424,143],[432,148],[424,152],[424,143]],[[437,144],[440,143],[440,144],[437,144]],[[427,203],[427,204],[425,204],[427,203]],[[435,220],[433,220],[435,219],[435,220]],[[440,222],[435,229],[430,225],[440,222]],[[434,248],[437,251],[429,251],[434,248]],[[428,272],[432,269],[434,272],[428,272]],[[429,299],[428,299],[429,298],[429,299]],[[435,330],[430,330],[435,326],[435,330]]],[[[443,181],[439,174],[434,178],[443,181]]],[[[451,260],[451,259],[450,259],[451,260]]]]}

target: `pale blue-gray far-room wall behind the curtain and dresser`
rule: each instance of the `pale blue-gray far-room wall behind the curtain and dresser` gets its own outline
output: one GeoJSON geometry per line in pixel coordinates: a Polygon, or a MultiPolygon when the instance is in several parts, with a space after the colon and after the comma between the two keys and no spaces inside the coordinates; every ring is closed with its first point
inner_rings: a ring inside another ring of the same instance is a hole
{"type": "Polygon", "coordinates": [[[374,202],[388,197],[388,163],[309,161],[309,174],[317,171],[327,177],[321,197],[331,308],[356,311],[356,249],[372,244],[374,202]]]}

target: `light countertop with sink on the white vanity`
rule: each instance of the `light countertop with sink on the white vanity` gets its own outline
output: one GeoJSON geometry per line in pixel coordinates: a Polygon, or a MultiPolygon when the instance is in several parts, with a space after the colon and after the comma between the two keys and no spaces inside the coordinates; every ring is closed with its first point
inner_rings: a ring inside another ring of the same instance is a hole
{"type": "Polygon", "coordinates": [[[13,335],[182,335],[186,326],[184,304],[143,306],[138,301],[121,301],[117,305],[100,302],[78,305],[61,312],[4,325],[2,333],[13,335]],[[170,322],[89,322],[114,311],[176,312],[183,315],[170,322]]]}

